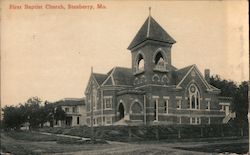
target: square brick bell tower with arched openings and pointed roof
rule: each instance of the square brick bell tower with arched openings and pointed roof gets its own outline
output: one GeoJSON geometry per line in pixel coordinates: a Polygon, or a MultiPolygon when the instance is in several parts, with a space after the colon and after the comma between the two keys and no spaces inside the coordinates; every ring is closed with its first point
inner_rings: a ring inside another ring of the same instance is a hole
{"type": "Polygon", "coordinates": [[[130,43],[134,85],[167,84],[171,65],[171,47],[176,41],[149,16],[130,43]]]}

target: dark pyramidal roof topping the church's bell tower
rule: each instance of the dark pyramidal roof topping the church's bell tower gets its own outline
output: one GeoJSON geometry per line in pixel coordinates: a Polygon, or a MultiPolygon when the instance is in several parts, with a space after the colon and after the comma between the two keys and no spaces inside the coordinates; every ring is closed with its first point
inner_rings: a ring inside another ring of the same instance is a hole
{"type": "Polygon", "coordinates": [[[176,41],[154,20],[153,17],[151,17],[151,15],[149,15],[140,30],[137,32],[128,49],[131,50],[146,40],[154,40],[170,44],[176,43],[176,41]]]}

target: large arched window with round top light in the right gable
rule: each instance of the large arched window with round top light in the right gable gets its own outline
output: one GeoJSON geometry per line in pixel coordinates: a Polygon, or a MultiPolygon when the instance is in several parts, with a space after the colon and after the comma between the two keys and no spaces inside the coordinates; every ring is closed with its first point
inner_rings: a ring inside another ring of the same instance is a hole
{"type": "Polygon", "coordinates": [[[188,104],[190,109],[200,109],[200,92],[194,84],[188,88],[188,104]]]}

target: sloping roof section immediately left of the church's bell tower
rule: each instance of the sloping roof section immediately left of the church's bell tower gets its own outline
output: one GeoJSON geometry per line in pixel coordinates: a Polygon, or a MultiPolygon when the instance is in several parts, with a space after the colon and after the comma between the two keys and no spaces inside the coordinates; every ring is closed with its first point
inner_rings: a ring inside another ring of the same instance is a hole
{"type": "Polygon", "coordinates": [[[133,85],[133,74],[132,69],[130,68],[114,67],[111,71],[109,71],[108,75],[109,76],[106,78],[102,85],[133,85]]]}

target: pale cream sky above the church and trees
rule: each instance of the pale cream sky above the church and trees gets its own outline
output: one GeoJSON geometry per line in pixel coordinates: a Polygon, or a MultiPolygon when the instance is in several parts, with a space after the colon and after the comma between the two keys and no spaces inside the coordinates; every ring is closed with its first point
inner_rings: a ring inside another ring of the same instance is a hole
{"type": "Polygon", "coordinates": [[[94,72],[131,67],[128,45],[149,15],[177,41],[172,64],[248,80],[247,1],[2,1],[1,106],[81,98],[94,72]],[[43,9],[24,9],[24,5],[43,9]],[[63,5],[65,9],[46,9],[63,5]],[[67,9],[93,5],[95,9],[67,9]],[[97,4],[105,8],[98,9],[97,4]],[[13,9],[20,5],[22,9],[13,9]],[[11,8],[11,9],[10,9],[11,8]]]}

